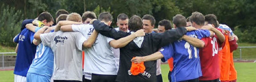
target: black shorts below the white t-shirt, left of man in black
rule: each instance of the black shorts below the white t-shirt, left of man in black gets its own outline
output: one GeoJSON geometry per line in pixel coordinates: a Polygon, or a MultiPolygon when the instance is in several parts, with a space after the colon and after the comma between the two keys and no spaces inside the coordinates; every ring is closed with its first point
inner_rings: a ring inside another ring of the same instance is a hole
{"type": "Polygon", "coordinates": [[[117,75],[92,74],[92,82],[116,82],[117,75]]]}

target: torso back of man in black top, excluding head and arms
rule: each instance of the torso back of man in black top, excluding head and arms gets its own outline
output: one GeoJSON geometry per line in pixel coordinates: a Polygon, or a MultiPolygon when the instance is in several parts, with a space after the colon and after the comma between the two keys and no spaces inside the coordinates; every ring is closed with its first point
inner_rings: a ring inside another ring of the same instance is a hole
{"type": "Polygon", "coordinates": [[[156,61],[144,62],[145,71],[136,76],[130,72],[133,57],[143,57],[153,54],[158,51],[158,47],[152,45],[154,40],[153,36],[157,33],[146,33],[144,37],[137,37],[125,47],[120,48],[120,65],[118,70],[117,81],[127,82],[156,82],[156,61]],[[135,43],[143,41],[143,43],[135,43]],[[141,45],[141,46],[137,46],[141,45]],[[140,47],[140,48],[139,48],[140,47]]]}

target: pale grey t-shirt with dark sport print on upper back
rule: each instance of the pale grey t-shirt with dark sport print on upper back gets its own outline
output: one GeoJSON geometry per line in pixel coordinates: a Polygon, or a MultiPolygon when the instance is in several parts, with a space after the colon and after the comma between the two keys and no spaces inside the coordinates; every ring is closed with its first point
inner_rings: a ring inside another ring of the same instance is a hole
{"type": "Polygon", "coordinates": [[[80,32],[52,32],[40,35],[42,44],[54,53],[54,80],[82,81],[82,45],[80,32]]]}

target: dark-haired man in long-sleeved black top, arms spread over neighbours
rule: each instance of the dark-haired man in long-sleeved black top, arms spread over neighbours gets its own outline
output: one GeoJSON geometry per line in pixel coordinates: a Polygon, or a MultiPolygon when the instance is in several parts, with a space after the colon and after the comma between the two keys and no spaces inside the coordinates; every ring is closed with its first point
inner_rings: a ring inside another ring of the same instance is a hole
{"type": "MultiPolygon", "coordinates": [[[[142,19],[139,16],[132,16],[128,22],[131,32],[116,31],[113,27],[93,21],[94,29],[113,39],[126,37],[131,33],[143,29],[142,19]]],[[[186,31],[194,30],[194,27],[180,27],[168,30],[164,33],[146,33],[144,37],[137,37],[125,47],[120,48],[120,65],[117,74],[117,82],[156,82],[156,61],[144,62],[146,70],[136,76],[130,72],[132,57],[151,55],[164,45],[172,43],[182,37],[186,31]]]]}

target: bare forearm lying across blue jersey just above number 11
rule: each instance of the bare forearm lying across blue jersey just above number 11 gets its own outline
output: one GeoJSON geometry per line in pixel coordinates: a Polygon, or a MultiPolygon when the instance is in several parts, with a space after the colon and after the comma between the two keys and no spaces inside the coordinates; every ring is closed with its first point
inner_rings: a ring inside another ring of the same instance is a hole
{"type": "Polygon", "coordinates": [[[204,42],[200,39],[194,38],[194,37],[189,37],[187,35],[183,35],[182,39],[187,41],[189,44],[193,45],[194,47],[204,47],[204,42]]]}

